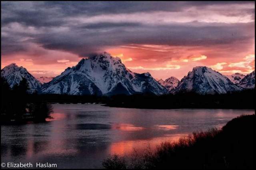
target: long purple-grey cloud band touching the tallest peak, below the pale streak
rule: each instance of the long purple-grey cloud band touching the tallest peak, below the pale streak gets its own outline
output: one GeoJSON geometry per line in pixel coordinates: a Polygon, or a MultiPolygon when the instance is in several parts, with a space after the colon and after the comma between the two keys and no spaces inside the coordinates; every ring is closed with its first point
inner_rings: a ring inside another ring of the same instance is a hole
{"type": "Polygon", "coordinates": [[[68,35],[66,33],[45,33],[41,36],[39,35],[34,41],[43,44],[43,47],[47,49],[71,51],[84,57],[92,52],[101,52],[102,49],[107,47],[132,44],[134,42],[155,45],[204,46],[227,44],[252,38],[251,34],[243,32],[244,28],[253,30],[254,24],[236,24],[236,26],[225,24],[223,26],[199,28],[186,25],[140,26],[136,30],[114,28],[107,32],[86,32],[82,28],[76,28],[76,32],[68,35]]]}

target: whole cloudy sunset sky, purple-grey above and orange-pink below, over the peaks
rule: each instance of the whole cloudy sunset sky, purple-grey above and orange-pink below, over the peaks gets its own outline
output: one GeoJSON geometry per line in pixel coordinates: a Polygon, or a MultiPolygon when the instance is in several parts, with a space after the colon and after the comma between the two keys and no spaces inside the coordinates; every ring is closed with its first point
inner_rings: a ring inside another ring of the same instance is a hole
{"type": "Polygon", "coordinates": [[[106,51],[128,69],[182,79],[204,65],[255,67],[255,2],[2,2],[1,69],[57,76],[106,51]]]}

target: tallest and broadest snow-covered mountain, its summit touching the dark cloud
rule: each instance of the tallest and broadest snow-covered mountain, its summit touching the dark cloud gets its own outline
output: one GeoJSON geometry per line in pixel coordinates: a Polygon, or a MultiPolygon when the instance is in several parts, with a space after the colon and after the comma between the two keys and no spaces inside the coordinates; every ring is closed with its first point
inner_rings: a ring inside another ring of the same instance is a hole
{"type": "Polygon", "coordinates": [[[162,95],[162,87],[150,73],[133,73],[118,57],[109,53],[82,59],[61,75],[42,85],[41,93],[70,95],[115,95],[154,93],[162,95]]]}

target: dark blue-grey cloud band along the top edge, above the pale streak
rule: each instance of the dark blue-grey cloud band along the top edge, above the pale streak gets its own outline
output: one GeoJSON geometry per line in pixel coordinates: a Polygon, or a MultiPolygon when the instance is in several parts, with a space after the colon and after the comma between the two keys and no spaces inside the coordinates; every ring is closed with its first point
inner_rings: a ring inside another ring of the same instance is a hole
{"type": "Polygon", "coordinates": [[[213,4],[254,5],[254,2],[1,2],[1,14],[4,15],[1,24],[21,22],[30,26],[59,26],[64,23],[65,17],[81,14],[94,16],[152,11],[180,12],[193,6],[203,8],[213,4]]]}

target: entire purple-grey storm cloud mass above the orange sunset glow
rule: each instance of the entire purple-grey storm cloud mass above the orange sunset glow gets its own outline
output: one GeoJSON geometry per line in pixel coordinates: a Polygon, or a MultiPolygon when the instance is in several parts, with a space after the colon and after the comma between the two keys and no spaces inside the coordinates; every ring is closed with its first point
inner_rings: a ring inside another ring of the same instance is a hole
{"type": "MultiPolygon", "coordinates": [[[[37,43],[46,49],[88,56],[108,47],[132,43],[214,45],[254,37],[254,22],[162,23],[162,18],[156,17],[152,18],[152,21],[149,20],[154,23],[148,23],[143,19],[137,20],[140,19],[140,14],[134,18],[124,16],[115,21],[115,17],[118,18],[122,14],[187,12],[192,7],[194,12],[191,15],[194,15],[196,20],[201,9],[227,4],[254,5],[254,2],[1,2],[1,54],[26,51],[30,48],[30,43],[37,43]],[[113,20],[104,20],[108,14],[114,15],[113,20]],[[102,19],[99,17],[100,19],[87,21],[94,16],[100,16],[102,19]],[[76,20],[77,18],[80,20],[76,20]]],[[[255,10],[251,8],[225,11],[218,8],[212,10],[223,16],[250,15],[254,20],[255,10]]],[[[177,18],[177,22],[179,19],[177,18]]]]}

